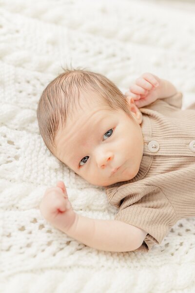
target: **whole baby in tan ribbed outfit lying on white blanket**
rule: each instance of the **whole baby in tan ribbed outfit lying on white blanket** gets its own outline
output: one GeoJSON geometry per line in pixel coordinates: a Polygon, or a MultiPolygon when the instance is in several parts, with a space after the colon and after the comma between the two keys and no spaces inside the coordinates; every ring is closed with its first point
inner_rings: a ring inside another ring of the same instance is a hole
{"type": "Polygon", "coordinates": [[[181,110],[181,103],[176,87],[151,73],[125,94],[86,70],[66,70],[48,84],[37,109],[45,145],[105,187],[118,212],[115,220],[79,215],[59,181],[44,193],[43,217],[98,250],[147,252],[179,219],[195,216],[195,105],[181,110]]]}

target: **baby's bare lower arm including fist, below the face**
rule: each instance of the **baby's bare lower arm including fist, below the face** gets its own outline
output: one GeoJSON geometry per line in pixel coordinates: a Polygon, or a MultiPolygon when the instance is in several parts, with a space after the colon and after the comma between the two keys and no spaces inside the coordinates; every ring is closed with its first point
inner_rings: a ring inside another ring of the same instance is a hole
{"type": "Polygon", "coordinates": [[[54,227],[98,250],[133,251],[141,246],[147,235],[145,231],[121,221],[78,215],[68,200],[63,182],[46,190],[40,211],[54,227]]]}

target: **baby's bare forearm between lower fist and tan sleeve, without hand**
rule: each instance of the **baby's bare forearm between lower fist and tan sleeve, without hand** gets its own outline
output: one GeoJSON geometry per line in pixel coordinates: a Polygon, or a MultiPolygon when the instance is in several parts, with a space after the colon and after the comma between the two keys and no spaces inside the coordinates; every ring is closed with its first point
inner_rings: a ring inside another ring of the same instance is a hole
{"type": "Polygon", "coordinates": [[[136,227],[117,220],[92,219],[77,214],[74,224],[64,232],[103,251],[132,251],[141,245],[136,238],[136,227]]]}

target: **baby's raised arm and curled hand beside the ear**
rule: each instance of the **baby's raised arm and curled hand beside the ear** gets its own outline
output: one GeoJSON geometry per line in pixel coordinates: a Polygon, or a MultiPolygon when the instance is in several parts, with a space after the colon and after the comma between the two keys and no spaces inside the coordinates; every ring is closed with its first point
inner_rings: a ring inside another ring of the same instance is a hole
{"type": "Polygon", "coordinates": [[[137,107],[144,107],[157,99],[168,98],[176,94],[176,87],[151,73],[142,74],[125,93],[128,102],[134,99],[137,107]]]}

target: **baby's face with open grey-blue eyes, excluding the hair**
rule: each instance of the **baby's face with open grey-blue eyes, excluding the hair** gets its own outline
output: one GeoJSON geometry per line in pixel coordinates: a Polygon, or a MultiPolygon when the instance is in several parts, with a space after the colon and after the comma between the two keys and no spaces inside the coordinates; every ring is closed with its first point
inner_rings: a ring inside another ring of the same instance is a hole
{"type": "Polygon", "coordinates": [[[89,183],[108,186],[136,176],[143,136],[136,112],[132,112],[135,121],[122,110],[100,105],[100,99],[92,91],[80,94],[81,108],[74,109],[65,127],[59,128],[55,155],[89,183]]]}

